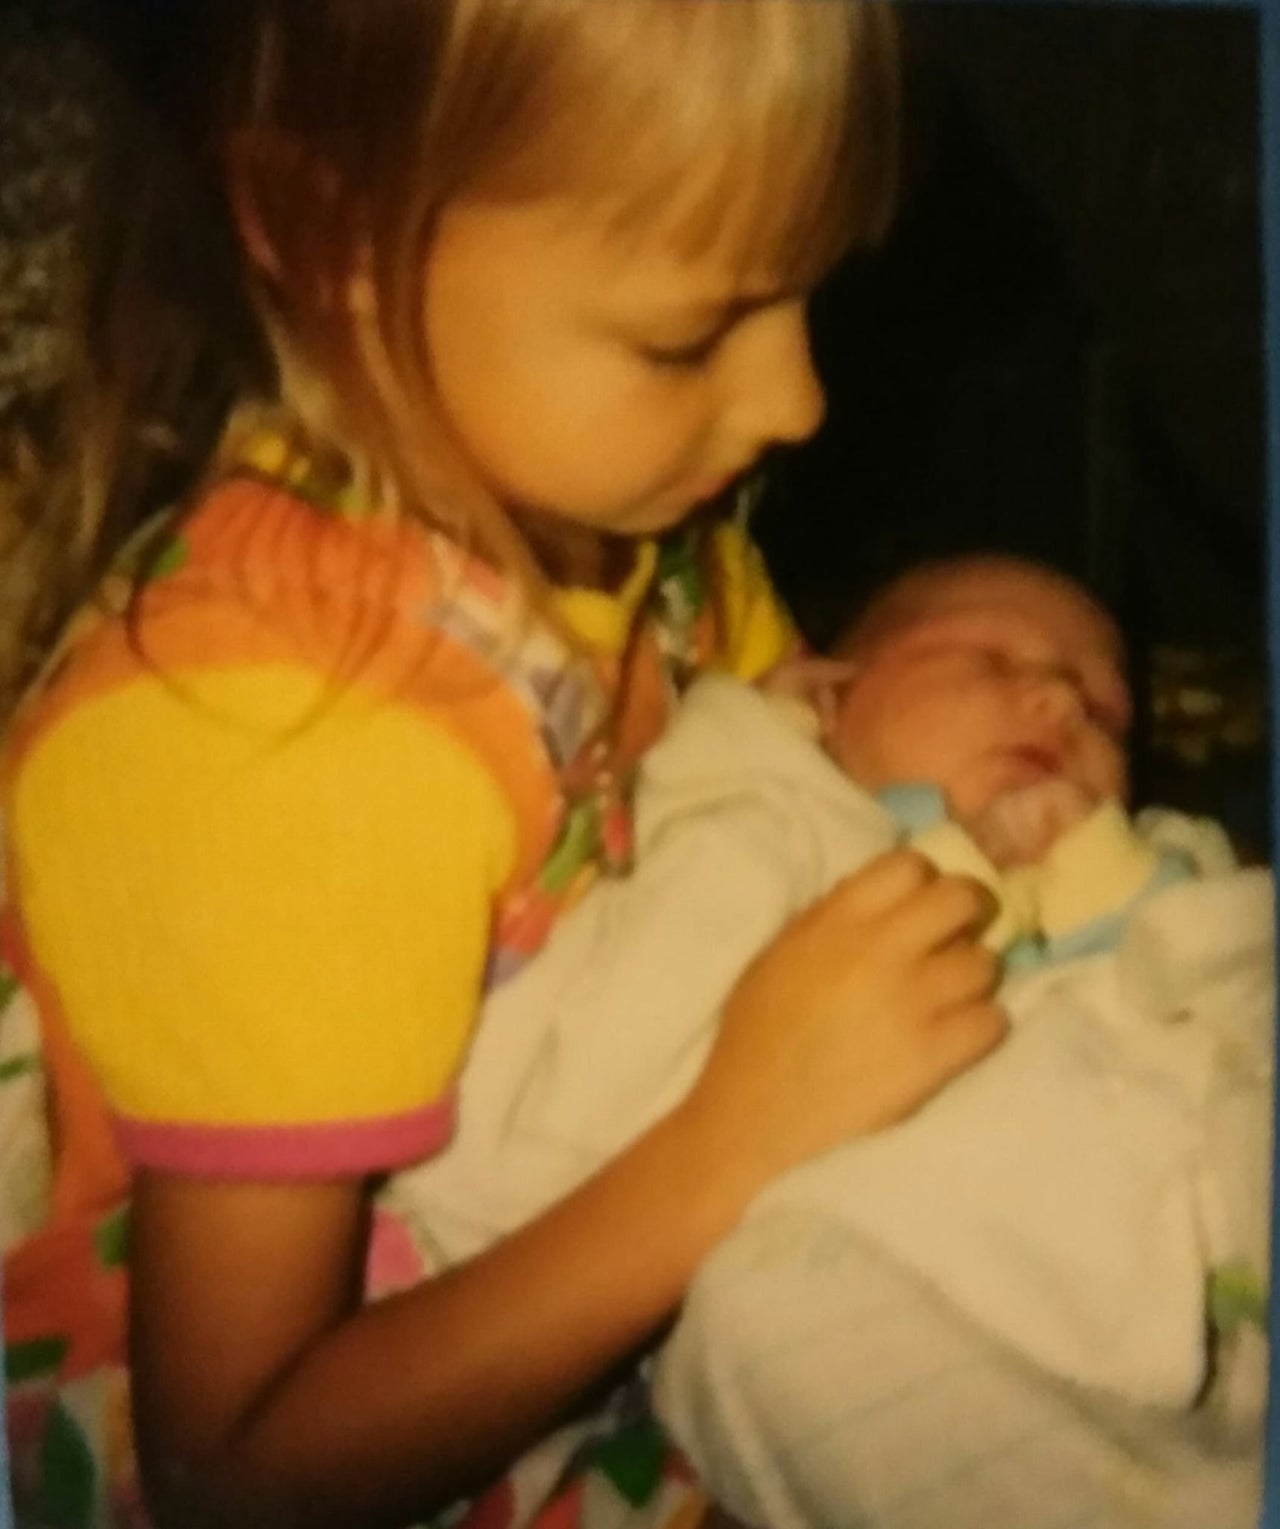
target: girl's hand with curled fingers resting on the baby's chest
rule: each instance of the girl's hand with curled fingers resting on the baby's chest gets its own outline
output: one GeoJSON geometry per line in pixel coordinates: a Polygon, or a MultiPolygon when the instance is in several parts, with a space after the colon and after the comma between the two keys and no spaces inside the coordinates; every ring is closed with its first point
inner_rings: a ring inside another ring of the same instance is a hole
{"type": "Polygon", "coordinates": [[[687,1109],[760,1182],[910,1115],[1005,1035],[991,911],[919,855],[873,861],[748,968],[687,1109]]]}

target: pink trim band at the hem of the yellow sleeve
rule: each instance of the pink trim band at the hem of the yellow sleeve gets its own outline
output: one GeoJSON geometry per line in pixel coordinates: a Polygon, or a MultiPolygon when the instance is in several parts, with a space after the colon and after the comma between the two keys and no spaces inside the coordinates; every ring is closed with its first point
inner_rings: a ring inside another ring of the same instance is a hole
{"type": "Polygon", "coordinates": [[[200,1179],[333,1179],[421,1162],[453,1136],[453,1093],[424,1110],[323,1125],[168,1125],[116,1116],[136,1168],[200,1179]]]}

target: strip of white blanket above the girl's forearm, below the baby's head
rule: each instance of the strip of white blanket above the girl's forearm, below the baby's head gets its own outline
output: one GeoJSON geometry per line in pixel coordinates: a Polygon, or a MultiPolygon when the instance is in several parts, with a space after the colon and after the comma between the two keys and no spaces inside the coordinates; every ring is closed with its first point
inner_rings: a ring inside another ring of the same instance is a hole
{"type": "Polygon", "coordinates": [[[448,1151],[395,1205],[439,1263],[538,1214],[691,1087],[757,951],[898,841],[755,691],[699,682],[645,757],[636,868],[599,882],[485,1008],[448,1151]]]}

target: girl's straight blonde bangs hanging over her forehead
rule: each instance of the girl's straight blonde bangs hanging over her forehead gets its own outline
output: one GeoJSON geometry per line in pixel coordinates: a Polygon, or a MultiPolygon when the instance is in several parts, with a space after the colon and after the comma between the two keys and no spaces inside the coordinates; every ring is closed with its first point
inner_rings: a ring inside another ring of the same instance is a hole
{"type": "Polygon", "coordinates": [[[811,286],[898,190],[898,40],[864,0],[520,0],[537,67],[479,177],[599,202],[690,257],[811,286]],[[673,81],[679,87],[673,89],[673,81]],[[590,133],[583,133],[583,122],[590,133]]]}

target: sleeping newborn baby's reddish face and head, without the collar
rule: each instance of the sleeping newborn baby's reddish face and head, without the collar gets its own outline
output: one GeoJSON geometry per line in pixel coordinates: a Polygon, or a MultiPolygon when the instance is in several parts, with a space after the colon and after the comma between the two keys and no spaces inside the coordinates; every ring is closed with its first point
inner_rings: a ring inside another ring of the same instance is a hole
{"type": "Polygon", "coordinates": [[[855,664],[837,763],[869,790],[939,786],[997,864],[1038,859],[1127,792],[1119,638],[1064,581],[1022,564],[934,575],[855,664]]]}

